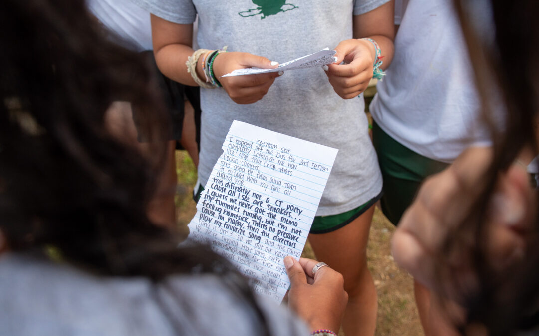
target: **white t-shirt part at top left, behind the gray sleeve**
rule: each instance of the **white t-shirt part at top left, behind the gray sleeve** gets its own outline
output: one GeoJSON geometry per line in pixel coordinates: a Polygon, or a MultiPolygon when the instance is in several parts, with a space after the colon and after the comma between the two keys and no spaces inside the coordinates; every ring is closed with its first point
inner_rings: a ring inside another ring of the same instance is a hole
{"type": "Polygon", "coordinates": [[[86,0],[88,9],[111,32],[141,52],[151,45],[150,13],[130,0],[86,0]]]}

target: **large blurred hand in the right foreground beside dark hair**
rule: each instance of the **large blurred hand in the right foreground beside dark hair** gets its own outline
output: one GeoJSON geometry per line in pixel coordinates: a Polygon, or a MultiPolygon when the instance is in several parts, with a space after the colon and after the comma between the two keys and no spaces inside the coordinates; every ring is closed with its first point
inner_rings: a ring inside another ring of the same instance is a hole
{"type": "MultiPolygon", "coordinates": [[[[485,186],[482,176],[491,161],[490,149],[469,148],[450,167],[427,178],[392,239],[393,258],[400,267],[428,288],[457,302],[465,302],[481,285],[471,266],[469,248],[465,248],[473,247],[475,240],[471,234],[461,237],[462,248],[450,255],[444,253],[444,260],[439,256],[448,235],[462,225],[479,197],[485,186]],[[437,270],[448,276],[440,278],[437,270]]],[[[481,236],[493,271],[503,272],[522,260],[525,238],[530,237],[530,223],[535,218],[534,204],[535,191],[529,186],[526,167],[512,165],[500,173],[481,236]]]]}

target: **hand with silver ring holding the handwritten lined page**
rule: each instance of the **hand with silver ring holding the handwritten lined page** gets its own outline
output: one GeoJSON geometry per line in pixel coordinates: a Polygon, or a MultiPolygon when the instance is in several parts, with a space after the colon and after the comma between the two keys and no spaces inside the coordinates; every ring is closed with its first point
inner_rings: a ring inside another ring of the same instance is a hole
{"type": "Polygon", "coordinates": [[[344,278],[329,267],[319,268],[316,275],[313,267],[316,260],[291,256],[285,258],[285,267],[290,278],[288,304],[307,321],[312,330],[330,329],[338,332],[348,302],[344,291],[344,278]]]}

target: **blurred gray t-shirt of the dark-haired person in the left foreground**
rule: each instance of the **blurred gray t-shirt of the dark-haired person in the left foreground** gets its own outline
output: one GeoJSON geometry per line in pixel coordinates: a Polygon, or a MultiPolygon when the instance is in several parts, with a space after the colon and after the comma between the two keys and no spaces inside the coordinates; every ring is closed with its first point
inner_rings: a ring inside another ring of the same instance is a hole
{"type": "MultiPolygon", "coordinates": [[[[307,335],[284,306],[257,296],[270,334],[307,335]]],[[[257,335],[253,309],[213,275],[99,277],[30,256],[0,256],[0,335],[257,335]],[[179,331],[178,331],[179,330],[179,331]]]]}

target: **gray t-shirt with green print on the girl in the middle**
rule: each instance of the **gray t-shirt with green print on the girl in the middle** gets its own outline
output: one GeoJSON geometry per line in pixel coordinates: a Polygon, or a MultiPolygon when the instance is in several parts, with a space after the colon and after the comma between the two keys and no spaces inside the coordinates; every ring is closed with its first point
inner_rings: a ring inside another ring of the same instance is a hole
{"type": "MultiPolygon", "coordinates": [[[[132,0],[170,22],[191,24],[198,14],[201,48],[261,55],[285,62],[352,38],[353,15],[389,0],[132,0]],[[255,5],[253,3],[257,3],[255,5]]],[[[204,185],[233,120],[317,144],[338,154],[316,215],[336,215],[382,190],[382,176],[364,113],[363,96],[342,99],[322,68],[278,77],[260,101],[236,104],[222,88],[201,89],[202,130],[198,179],[204,185]]]]}

